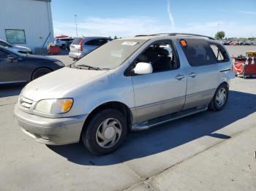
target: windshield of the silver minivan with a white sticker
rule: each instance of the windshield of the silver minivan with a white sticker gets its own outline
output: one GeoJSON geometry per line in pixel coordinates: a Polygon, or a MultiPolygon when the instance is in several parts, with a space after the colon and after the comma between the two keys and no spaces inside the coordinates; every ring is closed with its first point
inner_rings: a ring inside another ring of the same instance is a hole
{"type": "Polygon", "coordinates": [[[102,45],[75,63],[75,66],[93,66],[99,69],[116,69],[138,50],[146,40],[114,40],[102,45]]]}

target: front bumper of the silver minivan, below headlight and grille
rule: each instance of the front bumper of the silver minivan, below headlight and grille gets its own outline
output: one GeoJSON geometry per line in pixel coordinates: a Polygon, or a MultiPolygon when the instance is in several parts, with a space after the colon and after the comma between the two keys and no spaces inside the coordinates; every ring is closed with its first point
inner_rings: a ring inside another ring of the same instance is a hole
{"type": "Polygon", "coordinates": [[[15,117],[24,133],[43,144],[61,145],[76,143],[87,115],[64,118],[47,118],[21,111],[15,106],[15,117]]]}

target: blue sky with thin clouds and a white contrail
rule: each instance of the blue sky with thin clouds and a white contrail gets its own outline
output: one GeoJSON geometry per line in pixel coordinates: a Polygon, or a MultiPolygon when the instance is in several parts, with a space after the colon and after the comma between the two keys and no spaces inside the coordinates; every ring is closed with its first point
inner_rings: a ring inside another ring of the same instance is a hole
{"type": "Polygon", "coordinates": [[[256,36],[256,0],[52,0],[54,34],[135,36],[183,32],[256,36]]]}

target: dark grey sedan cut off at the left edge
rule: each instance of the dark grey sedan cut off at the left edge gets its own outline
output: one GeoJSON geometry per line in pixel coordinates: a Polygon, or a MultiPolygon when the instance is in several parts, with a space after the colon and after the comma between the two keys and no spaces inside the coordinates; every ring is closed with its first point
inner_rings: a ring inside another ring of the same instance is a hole
{"type": "Polygon", "coordinates": [[[39,55],[23,55],[0,46],[0,84],[30,82],[61,69],[61,61],[39,55]]]}

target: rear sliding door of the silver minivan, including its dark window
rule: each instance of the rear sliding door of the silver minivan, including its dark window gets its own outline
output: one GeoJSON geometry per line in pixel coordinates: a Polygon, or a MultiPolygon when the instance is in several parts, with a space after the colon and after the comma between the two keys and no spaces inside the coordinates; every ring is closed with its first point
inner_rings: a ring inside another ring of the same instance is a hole
{"type": "Polygon", "coordinates": [[[204,39],[185,39],[183,47],[189,66],[184,109],[209,104],[219,85],[219,68],[214,52],[204,39]]]}

